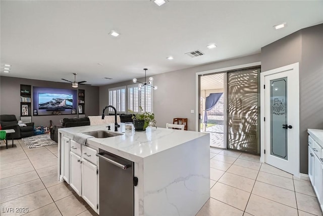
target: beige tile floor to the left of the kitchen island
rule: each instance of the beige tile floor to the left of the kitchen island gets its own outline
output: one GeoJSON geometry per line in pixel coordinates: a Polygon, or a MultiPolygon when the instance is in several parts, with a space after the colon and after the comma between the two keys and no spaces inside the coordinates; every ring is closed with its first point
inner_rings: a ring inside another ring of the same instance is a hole
{"type": "Polygon", "coordinates": [[[57,181],[57,145],[28,149],[15,140],[14,148],[9,146],[0,145],[0,215],[97,215],[69,185],[57,181]],[[6,212],[10,207],[29,212],[6,212]]]}

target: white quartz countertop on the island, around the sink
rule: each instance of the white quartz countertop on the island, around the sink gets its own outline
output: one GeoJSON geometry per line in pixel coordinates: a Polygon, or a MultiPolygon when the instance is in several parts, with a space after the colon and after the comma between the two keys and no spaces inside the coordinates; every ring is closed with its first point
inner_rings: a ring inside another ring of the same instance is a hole
{"type": "MultiPolygon", "coordinates": [[[[111,131],[114,132],[114,124],[111,125],[111,131]]],[[[109,138],[90,138],[86,145],[94,146],[105,151],[123,156],[132,161],[138,161],[142,158],[156,154],[158,152],[174,148],[183,143],[195,140],[202,136],[208,136],[207,133],[181,131],[177,129],[147,127],[145,132],[136,132],[125,130],[124,123],[120,123],[118,128],[121,136],[109,138]]],[[[69,136],[71,139],[74,134],[91,131],[107,131],[107,125],[92,125],[79,127],[60,128],[59,132],[69,136]]]]}

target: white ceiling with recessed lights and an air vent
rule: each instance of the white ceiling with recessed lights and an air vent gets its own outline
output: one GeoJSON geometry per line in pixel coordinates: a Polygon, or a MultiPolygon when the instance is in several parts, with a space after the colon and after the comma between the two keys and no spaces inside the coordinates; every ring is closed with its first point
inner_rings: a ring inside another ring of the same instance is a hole
{"type": "Polygon", "coordinates": [[[1,75],[63,81],[76,72],[104,85],[142,77],[143,68],[149,76],[260,53],[320,23],[323,1],[1,1],[1,63],[12,65],[1,75]],[[205,55],[184,55],[197,49],[205,55]]]}

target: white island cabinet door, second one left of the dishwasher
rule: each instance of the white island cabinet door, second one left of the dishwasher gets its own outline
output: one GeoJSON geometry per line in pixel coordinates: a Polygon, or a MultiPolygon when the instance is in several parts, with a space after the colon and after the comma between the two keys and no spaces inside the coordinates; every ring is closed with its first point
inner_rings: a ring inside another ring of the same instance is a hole
{"type": "Polygon", "coordinates": [[[82,161],[81,157],[71,152],[71,179],[70,186],[81,196],[82,189],[82,161]]]}

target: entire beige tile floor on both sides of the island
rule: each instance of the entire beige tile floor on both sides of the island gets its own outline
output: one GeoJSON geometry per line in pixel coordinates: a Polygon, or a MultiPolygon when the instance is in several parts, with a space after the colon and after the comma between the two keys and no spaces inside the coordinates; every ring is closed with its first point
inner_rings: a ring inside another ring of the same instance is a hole
{"type": "MultiPolygon", "coordinates": [[[[210,149],[210,199],[199,216],[322,215],[311,184],[249,154],[210,149]]],[[[66,183],[57,181],[57,145],[0,146],[1,215],[97,215],[66,183]],[[28,207],[28,213],[6,213],[28,207]]],[[[168,215],[165,215],[168,216],[168,215]]]]}

